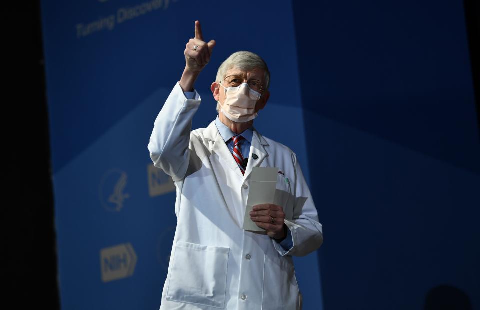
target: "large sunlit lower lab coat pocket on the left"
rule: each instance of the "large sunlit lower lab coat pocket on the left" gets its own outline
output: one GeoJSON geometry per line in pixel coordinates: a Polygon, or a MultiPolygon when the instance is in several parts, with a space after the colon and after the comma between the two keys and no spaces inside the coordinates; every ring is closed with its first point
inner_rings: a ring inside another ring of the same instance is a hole
{"type": "Polygon", "coordinates": [[[166,299],[223,309],[229,252],[227,247],[177,241],[166,299]]]}

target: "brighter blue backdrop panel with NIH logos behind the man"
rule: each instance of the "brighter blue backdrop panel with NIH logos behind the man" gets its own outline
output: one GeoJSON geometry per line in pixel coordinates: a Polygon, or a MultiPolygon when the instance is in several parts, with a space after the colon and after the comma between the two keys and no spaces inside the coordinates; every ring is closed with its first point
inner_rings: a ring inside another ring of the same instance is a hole
{"type": "MultiPolygon", "coordinates": [[[[160,305],[175,193],[146,146],[196,19],[217,45],[196,83],[203,103],[193,127],[216,116],[209,88],[220,63],[237,50],[256,52],[270,68],[272,95],[255,127],[290,146],[309,179],[289,1],[43,1],[63,309],[160,305]]],[[[321,309],[316,253],[295,265],[305,308],[321,309]]]]}

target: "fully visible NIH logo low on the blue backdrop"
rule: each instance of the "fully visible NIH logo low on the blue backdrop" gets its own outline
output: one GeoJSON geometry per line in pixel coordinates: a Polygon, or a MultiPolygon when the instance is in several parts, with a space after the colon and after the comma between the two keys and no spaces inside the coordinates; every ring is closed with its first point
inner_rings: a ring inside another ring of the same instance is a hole
{"type": "Polygon", "coordinates": [[[136,254],[131,244],[123,243],[100,250],[101,280],[109,282],[133,275],[136,254]]]}

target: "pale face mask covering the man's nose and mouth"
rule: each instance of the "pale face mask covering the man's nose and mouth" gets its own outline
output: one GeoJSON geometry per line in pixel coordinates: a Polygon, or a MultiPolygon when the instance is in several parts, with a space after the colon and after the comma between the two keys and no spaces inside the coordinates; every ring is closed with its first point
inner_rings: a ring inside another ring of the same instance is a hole
{"type": "MultiPolygon", "coordinates": [[[[223,85],[222,85],[223,87],[223,85]]],[[[255,106],[261,94],[252,90],[248,83],[225,88],[225,100],[220,103],[221,112],[233,122],[244,123],[258,116],[255,106]]]]}

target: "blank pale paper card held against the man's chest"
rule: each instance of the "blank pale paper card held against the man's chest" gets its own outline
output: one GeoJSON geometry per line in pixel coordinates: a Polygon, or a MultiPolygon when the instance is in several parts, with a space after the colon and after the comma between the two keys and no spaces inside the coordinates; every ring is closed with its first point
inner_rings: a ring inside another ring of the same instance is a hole
{"type": "Polygon", "coordinates": [[[275,199],[276,180],[278,168],[253,167],[250,177],[250,191],[246,202],[243,229],[252,231],[265,231],[250,219],[250,211],[254,205],[273,203],[275,199]]]}

